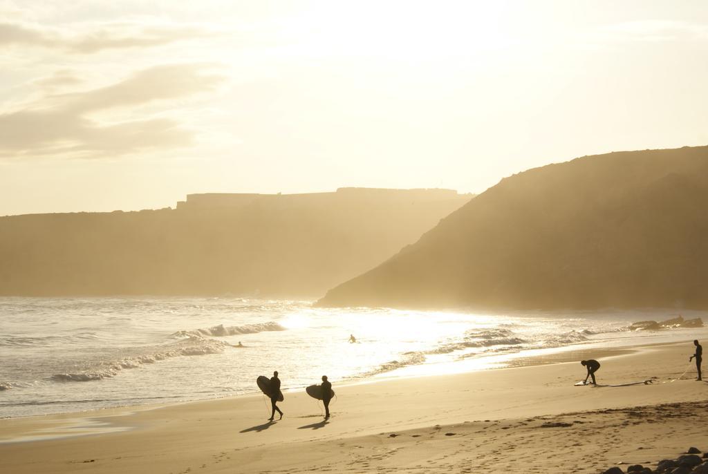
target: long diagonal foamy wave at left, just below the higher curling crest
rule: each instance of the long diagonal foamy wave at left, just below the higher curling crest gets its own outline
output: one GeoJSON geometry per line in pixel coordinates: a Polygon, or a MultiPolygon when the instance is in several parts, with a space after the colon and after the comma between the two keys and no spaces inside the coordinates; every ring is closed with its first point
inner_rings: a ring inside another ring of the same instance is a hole
{"type": "Polygon", "coordinates": [[[102,364],[93,369],[84,371],[55,374],[51,378],[62,382],[87,382],[101,380],[103,378],[115,377],[120,371],[125,369],[137,369],[144,364],[154,364],[155,362],[169,359],[170,357],[198,356],[207,354],[220,354],[224,348],[228,347],[226,342],[205,339],[205,337],[191,336],[188,339],[173,342],[165,347],[157,347],[156,352],[151,354],[139,354],[132,357],[118,359],[108,364],[102,364]]]}

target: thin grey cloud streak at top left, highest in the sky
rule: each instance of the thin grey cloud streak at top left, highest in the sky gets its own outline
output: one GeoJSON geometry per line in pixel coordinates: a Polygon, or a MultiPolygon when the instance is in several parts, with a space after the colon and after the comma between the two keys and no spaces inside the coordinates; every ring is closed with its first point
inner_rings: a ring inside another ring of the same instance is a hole
{"type": "Polygon", "coordinates": [[[103,50],[154,47],[210,35],[204,28],[184,25],[104,23],[48,28],[22,22],[0,22],[0,47],[44,47],[78,54],[103,50]]]}

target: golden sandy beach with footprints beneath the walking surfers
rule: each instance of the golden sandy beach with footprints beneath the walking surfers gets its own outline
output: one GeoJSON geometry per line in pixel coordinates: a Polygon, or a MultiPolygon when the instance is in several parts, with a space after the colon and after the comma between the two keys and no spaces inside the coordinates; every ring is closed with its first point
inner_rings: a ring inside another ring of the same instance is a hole
{"type": "Polygon", "coordinates": [[[597,473],[618,463],[655,466],[690,446],[708,449],[708,383],[695,381],[693,370],[675,380],[691,349],[687,341],[596,353],[598,383],[652,379],[649,385],[573,386],[585,375],[577,361],[349,386],[333,380],[329,422],[304,392],[285,393],[285,416],[273,423],[260,395],[0,420],[0,470],[597,473]]]}

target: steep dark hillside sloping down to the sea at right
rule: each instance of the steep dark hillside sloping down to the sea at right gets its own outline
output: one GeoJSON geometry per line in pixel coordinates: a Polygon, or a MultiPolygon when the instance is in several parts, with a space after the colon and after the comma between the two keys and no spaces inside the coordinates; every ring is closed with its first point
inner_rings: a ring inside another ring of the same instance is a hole
{"type": "Polygon", "coordinates": [[[322,306],[708,308],[708,147],[513,175],[322,306]]]}

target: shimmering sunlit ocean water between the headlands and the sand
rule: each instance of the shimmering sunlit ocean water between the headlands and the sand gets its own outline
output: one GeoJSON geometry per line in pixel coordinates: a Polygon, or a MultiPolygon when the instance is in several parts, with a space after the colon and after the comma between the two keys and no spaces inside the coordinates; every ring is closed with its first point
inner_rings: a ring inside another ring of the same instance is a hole
{"type": "MultiPolygon", "coordinates": [[[[692,338],[671,311],[470,313],[240,298],[0,298],[0,417],[491,369],[539,350],[692,338]],[[353,334],[358,342],[348,342],[353,334]],[[244,347],[234,347],[241,342],[244,347]]],[[[704,313],[684,312],[685,318],[704,313]]]]}

